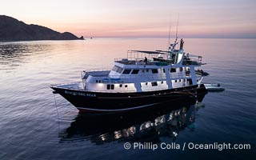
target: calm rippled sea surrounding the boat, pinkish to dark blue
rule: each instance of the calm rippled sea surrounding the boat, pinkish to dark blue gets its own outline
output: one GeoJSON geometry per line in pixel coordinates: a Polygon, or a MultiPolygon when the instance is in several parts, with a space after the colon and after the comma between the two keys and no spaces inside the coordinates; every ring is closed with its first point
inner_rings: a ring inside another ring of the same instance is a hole
{"type": "Polygon", "coordinates": [[[0,43],[0,159],[255,159],[256,40],[185,39],[221,83],[202,104],[175,102],[129,114],[78,114],[50,84],[110,68],[126,50],[166,50],[166,39],[93,39],[0,43]],[[58,112],[57,112],[58,110],[58,112]],[[132,148],[124,149],[130,142],[132,148]],[[139,150],[134,143],[158,145],[139,150]],[[150,143],[152,142],[152,143],[150,143]],[[163,150],[162,142],[181,149],[163,150]],[[250,150],[189,150],[194,144],[250,144],[250,150]]]}

